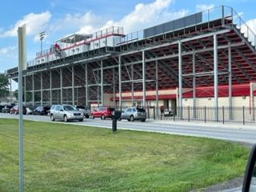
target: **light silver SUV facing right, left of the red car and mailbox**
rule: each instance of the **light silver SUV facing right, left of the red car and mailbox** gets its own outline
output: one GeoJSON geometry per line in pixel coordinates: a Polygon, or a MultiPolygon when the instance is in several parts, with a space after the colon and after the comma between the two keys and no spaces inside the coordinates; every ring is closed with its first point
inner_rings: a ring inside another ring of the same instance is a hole
{"type": "Polygon", "coordinates": [[[54,105],[50,107],[50,120],[55,121],[64,120],[68,122],[71,120],[78,120],[82,122],[84,115],[81,111],[77,110],[74,106],[71,105],[54,105]]]}

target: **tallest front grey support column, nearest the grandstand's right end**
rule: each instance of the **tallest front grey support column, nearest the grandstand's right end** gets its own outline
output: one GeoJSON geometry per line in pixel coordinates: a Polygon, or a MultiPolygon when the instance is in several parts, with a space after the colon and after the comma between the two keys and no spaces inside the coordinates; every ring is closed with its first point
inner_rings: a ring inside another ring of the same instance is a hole
{"type": "Polygon", "coordinates": [[[215,121],[218,122],[218,39],[214,34],[214,109],[215,121]]]}

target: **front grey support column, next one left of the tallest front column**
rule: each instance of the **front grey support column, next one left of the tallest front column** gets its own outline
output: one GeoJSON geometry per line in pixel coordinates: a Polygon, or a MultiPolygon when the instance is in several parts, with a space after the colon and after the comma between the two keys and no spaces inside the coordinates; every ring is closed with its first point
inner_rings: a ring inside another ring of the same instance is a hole
{"type": "Polygon", "coordinates": [[[178,42],[178,114],[182,118],[182,42],[178,42]]]}

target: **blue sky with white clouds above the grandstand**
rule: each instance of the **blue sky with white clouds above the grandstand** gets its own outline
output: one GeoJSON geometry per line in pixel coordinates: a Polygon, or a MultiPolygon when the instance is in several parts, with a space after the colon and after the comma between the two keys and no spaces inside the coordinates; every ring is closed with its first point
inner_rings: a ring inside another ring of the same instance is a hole
{"type": "Polygon", "coordinates": [[[47,49],[67,34],[90,34],[106,26],[123,26],[130,33],[220,5],[232,6],[256,30],[255,0],[4,1],[0,13],[0,72],[18,65],[17,29],[24,23],[29,61],[40,51],[38,34],[42,31],[46,31],[43,49],[47,49]]]}

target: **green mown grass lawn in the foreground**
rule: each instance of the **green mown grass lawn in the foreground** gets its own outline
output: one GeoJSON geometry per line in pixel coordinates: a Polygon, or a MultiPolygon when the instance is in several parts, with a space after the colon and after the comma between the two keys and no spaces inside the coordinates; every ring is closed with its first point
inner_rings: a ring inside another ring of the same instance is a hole
{"type": "MultiPolygon", "coordinates": [[[[24,122],[25,191],[189,191],[243,174],[232,142],[24,122]]],[[[0,191],[18,191],[18,120],[0,119],[0,191]]]]}

